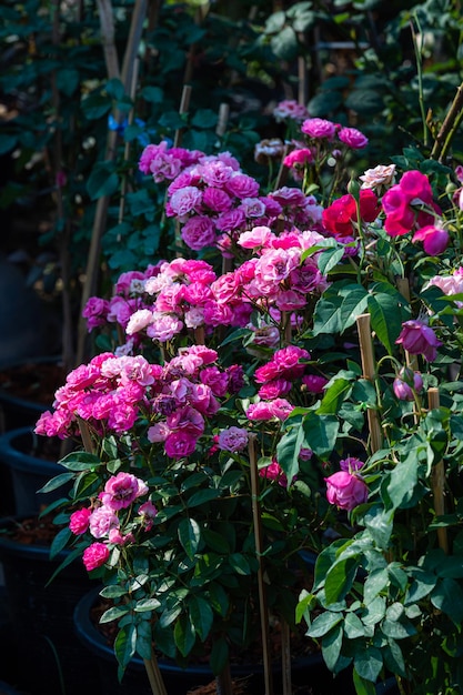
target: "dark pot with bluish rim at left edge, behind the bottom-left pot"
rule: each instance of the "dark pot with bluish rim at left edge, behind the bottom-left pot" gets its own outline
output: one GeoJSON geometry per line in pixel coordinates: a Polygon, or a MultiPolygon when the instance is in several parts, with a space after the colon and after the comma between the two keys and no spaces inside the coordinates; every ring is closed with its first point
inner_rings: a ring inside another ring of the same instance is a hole
{"type": "Polygon", "coordinates": [[[50,444],[51,440],[39,437],[32,427],[19,427],[0,435],[0,466],[3,479],[9,474],[12,493],[12,500],[4,497],[1,502],[2,514],[38,514],[43,505],[63,496],[63,488],[53,493],[38,493],[51,477],[63,472],[56,461],[43,457],[50,444]],[[3,506],[7,503],[9,506],[3,506]]]}

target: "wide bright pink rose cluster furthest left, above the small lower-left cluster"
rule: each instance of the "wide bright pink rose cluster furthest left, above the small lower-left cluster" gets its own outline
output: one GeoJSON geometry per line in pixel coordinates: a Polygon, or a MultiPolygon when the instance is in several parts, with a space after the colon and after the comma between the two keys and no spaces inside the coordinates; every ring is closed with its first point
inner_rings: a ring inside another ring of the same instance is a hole
{"type": "Polygon", "coordinates": [[[220,370],[218,353],[203,345],[181,351],[163,366],[141,355],[103,353],[70,372],[56,393],[53,412],[36,432],[61,439],[79,432],[79,419],[102,435],[130,433],[145,422],[147,436],[170,459],[189,456],[214,415],[219,399],[243,385],[242,367],[220,370]]]}

